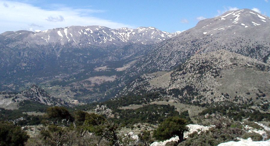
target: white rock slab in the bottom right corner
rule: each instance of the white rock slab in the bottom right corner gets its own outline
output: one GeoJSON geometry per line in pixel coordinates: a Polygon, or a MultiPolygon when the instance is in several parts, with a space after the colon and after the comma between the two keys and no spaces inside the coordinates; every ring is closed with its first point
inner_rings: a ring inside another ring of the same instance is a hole
{"type": "Polygon", "coordinates": [[[217,146],[270,146],[270,140],[268,141],[258,141],[253,142],[251,138],[248,139],[238,139],[238,142],[225,142],[217,146]]]}

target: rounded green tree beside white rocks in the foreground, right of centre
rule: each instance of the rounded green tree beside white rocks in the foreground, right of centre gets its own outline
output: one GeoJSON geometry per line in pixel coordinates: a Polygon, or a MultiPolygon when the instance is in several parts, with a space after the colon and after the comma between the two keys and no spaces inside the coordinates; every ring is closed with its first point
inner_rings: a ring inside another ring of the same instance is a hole
{"type": "Polygon", "coordinates": [[[153,136],[157,140],[166,140],[178,136],[179,142],[182,142],[184,140],[184,132],[189,130],[186,125],[186,120],[182,118],[169,117],[158,125],[158,128],[154,130],[153,136]]]}

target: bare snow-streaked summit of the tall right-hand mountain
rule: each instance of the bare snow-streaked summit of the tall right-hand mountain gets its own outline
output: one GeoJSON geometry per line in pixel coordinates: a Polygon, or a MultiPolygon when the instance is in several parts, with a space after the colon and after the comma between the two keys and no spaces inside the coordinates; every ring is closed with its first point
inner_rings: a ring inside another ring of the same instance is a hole
{"type": "Polygon", "coordinates": [[[237,33],[237,29],[252,29],[252,27],[255,26],[259,26],[259,29],[263,29],[261,27],[269,25],[270,18],[268,16],[250,9],[241,9],[227,11],[211,19],[204,19],[198,22],[193,29],[196,29],[200,36],[207,36],[228,30],[237,33]]]}

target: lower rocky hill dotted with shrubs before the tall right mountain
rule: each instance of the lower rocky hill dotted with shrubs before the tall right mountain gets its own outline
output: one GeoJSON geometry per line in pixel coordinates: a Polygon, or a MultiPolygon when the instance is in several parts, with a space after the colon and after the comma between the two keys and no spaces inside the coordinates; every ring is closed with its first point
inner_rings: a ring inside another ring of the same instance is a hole
{"type": "Polygon", "coordinates": [[[219,50],[195,54],[171,72],[144,74],[124,90],[165,91],[184,103],[232,101],[268,105],[270,65],[240,54],[219,50]]]}

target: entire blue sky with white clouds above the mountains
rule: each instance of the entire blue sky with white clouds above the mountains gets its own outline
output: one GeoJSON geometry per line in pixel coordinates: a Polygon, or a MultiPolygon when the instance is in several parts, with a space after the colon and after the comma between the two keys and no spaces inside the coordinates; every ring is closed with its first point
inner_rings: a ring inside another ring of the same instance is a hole
{"type": "Polygon", "coordinates": [[[243,8],[270,15],[268,0],[0,0],[0,33],[71,25],[152,26],[176,32],[194,27],[199,20],[243,8]]]}

